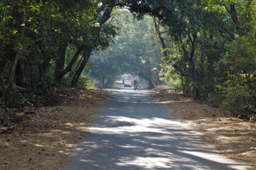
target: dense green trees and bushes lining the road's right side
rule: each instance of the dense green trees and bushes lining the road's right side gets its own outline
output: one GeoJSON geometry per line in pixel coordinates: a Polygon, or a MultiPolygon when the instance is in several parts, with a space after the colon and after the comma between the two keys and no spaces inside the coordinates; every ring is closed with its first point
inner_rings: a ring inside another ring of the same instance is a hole
{"type": "Polygon", "coordinates": [[[138,18],[155,16],[167,83],[173,86],[179,75],[183,93],[219,95],[222,106],[234,114],[255,112],[255,1],[145,0],[126,5],[138,18]]]}

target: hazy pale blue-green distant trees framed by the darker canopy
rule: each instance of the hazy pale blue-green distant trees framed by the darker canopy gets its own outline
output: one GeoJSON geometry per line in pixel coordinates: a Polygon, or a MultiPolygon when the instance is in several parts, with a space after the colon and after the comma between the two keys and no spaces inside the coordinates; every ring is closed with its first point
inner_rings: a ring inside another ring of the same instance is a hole
{"type": "Polygon", "coordinates": [[[102,86],[108,86],[119,75],[132,73],[138,75],[153,86],[151,69],[158,67],[161,61],[160,43],[152,33],[152,18],[146,16],[137,21],[127,10],[115,10],[112,17],[119,27],[111,48],[94,53],[88,71],[102,86]]]}

